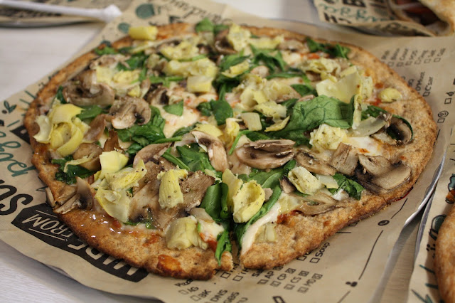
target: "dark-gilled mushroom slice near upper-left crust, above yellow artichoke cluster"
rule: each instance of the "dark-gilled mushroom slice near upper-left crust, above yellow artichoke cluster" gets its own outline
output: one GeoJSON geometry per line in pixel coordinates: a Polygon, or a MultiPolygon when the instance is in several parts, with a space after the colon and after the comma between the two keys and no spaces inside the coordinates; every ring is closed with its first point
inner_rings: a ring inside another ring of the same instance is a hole
{"type": "Polygon", "coordinates": [[[105,83],[96,83],[95,70],[85,70],[63,88],[63,97],[77,106],[112,105],[114,90],[105,83]]]}

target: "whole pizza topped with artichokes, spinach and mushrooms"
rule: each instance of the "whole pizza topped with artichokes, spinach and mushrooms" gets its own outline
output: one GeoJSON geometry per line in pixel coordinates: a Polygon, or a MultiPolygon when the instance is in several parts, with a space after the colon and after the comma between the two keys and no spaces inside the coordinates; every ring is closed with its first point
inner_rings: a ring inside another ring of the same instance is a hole
{"type": "Polygon", "coordinates": [[[410,191],[424,99],[367,51],[278,28],[133,27],[56,73],[25,125],[48,204],[163,276],[272,268],[410,191]]]}

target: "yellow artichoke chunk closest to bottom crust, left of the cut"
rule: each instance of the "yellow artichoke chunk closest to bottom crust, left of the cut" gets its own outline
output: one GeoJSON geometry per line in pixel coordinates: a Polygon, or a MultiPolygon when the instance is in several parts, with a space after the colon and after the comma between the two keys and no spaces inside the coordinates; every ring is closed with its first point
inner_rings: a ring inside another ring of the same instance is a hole
{"type": "Polygon", "coordinates": [[[198,233],[198,221],[194,216],[173,220],[166,230],[166,245],[169,249],[183,250],[191,246],[208,248],[198,233]]]}

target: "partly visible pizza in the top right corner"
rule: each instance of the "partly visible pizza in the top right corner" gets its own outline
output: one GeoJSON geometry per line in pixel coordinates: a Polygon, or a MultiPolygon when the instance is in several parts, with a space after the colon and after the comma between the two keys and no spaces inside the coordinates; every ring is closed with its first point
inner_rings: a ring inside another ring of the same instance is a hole
{"type": "Polygon", "coordinates": [[[436,35],[455,32],[455,2],[452,0],[388,0],[398,18],[422,24],[436,35]]]}

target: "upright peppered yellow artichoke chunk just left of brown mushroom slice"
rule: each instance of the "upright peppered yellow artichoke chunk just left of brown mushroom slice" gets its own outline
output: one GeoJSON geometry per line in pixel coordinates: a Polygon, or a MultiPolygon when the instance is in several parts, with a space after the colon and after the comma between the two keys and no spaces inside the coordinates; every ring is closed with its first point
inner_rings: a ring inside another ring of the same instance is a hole
{"type": "Polygon", "coordinates": [[[183,193],[178,181],[185,179],[186,176],[188,176],[186,169],[170,169],[158,175],[161,177],[158,200],[161,208],[173,208],[183,203],[183,193]]]}

